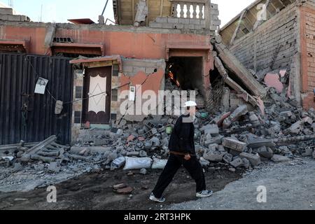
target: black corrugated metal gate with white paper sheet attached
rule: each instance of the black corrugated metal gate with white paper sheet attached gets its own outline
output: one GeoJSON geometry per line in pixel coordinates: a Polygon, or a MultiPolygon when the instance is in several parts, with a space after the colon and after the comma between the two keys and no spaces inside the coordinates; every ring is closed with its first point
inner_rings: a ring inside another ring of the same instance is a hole
{"type": "Polygon", "coordinates": [[[71,104],[55,115],[55,99],[71,102],[72,74],[64,57],[0,52],[0,145],[43,141],[52,134],[69,144],[71,104]],[[34,94],[38,77],[49,80],[45,94],[34,94]]]}

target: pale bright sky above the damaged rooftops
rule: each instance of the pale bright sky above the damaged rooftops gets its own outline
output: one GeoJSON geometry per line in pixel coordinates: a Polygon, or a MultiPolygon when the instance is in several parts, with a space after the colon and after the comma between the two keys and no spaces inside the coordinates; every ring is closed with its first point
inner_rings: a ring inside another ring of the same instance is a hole
{"type": "MultiPolygon", "coordinates": [[[[13,1],[13,8],[18,13],[29,16],[34,22],[67,22],[68,19],[90,18],[98,21],[106,0],[0,0],[3,3],[13,1]],[[41,10],[43,8],[43,10],[41,10]],[[42,13],[41,13],[42,12],[42,13]]],[[[254,0],[211,0],[218,3],[221,26],[249,6],[254,0]]],[[[104,13],[105,20],[113,20],[113,1],[109,0],[104,13]]]]}

